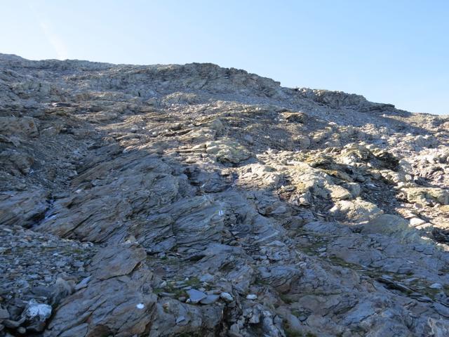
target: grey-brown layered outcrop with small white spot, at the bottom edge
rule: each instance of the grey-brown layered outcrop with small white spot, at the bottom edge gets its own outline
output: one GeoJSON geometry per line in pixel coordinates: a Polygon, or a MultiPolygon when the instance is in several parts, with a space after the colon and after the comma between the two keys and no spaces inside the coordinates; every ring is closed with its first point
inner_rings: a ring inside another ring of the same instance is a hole
{"type": "Polygon", "coordinates": [[[93,259],[94,279],[60,303],[47,336],[143,333],[157,299],[148,288],[152,273],[144,268],[135,270],[145,256],[143,249],[126,246],[100,251],[93,259]]]}

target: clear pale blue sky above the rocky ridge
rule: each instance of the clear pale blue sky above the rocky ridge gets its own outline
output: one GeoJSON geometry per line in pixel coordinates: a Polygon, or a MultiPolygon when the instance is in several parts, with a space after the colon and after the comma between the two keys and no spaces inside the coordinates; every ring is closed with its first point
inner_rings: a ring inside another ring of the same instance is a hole
{"type": "Polygon", "coordinates": [[[0,52],[213,62],[449,114],[448,0],[0,0],[0,52]]]}

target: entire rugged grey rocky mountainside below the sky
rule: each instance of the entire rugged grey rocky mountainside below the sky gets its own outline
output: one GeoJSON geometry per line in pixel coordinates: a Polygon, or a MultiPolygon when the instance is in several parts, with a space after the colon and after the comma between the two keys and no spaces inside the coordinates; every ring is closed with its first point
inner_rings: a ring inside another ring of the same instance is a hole
{"type": "Polygon", "coordinates": [[[448,125],[0,54],[0,336],[449,336],[448,125]]]}

